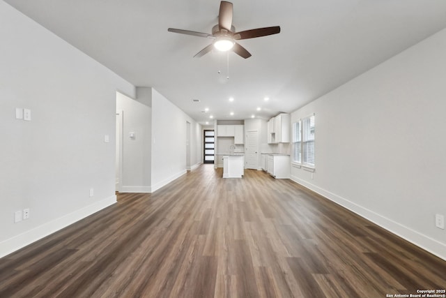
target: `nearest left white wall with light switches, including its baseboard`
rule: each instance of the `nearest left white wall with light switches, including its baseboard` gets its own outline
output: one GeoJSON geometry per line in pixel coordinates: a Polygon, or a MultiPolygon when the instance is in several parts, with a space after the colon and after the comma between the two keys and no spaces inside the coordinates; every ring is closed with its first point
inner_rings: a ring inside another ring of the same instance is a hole
{"type": "Polygon", "coordinates": [[[116,202],[116,90],[134,87],[3,1],[0,40],[2,256],[116,202]]]}

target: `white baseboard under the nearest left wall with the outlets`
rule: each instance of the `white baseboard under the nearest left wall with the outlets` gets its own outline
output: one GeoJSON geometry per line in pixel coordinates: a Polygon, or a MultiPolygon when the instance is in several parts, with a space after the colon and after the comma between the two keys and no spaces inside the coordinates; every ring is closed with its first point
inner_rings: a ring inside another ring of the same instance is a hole
{"type": "Polygon", "coordinates": [[[87,216],[109,207],[114,203],[116,203],[116,195],[112,195],[109,198],[105,198],[104,200],[95,202],[94,204],[76,210],[70,214],[66,214],[62,217],[44,223],[43,225],[39,225],[38,227],[28,230],[22,234],[18,234],[15,237],[1,241],[0,258],[4,257],[5,255],[9,255],[10,253],[13,253],[14,251],[17,251],[35,241],[38,241],[49,234],[66,228],[68,225],[80,221],[82,218],[86,218],[87,216]]]}

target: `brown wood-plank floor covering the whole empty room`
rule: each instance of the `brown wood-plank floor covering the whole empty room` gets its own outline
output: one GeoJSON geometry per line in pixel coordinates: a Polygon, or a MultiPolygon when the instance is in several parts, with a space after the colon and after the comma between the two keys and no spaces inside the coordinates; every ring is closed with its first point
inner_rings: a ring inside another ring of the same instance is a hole
{"type": "Polygon", "coordinates": [[[446,262],[286,179],[201,165],[0,259],[0,297],[386,297],[446,262]]]}

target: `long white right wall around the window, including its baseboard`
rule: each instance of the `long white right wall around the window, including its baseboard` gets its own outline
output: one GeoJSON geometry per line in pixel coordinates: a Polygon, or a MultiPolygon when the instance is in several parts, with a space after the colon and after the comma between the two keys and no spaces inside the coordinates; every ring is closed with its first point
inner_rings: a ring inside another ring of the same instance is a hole
{"type": "Polygon", "coordinates": [[[446,30],[291,115],[316,114],[316,172],[291,175],[446,259],[446,30]]]}

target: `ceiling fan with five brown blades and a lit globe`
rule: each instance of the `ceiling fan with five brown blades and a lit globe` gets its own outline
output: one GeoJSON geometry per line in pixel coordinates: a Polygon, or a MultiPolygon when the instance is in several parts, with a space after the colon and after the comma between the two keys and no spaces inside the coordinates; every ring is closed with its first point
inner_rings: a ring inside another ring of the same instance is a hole
{"type": "Polygon", "coordinates": [[[242,47],[236,40],[248,39],[248,38],[256,38],[261,36],[268,36],[272,34],[277,34],[280,32],[280,27],[265,27],[258,29],[250,29],[245,31],[236,32],[236,28],[232,25],[232,14],[233,14],[233,5],[231,2],[222,1],[220,3],[220,13],[218,15],[218,24],[216,24],[212,33],[201,33],[196,31],[189,31],[183,29],[174,29],[169,28],[167,31],[174,33],[187,34],[192,36],[206,37],[214,39],[213,43],[205,47],[203,50],[198,52],[194,58],[202,57],[204,54],[210,52],[213,47],[217,50],[226,52],[232,50],[240,57],[249,58],[251,54],[242,47]]]}

